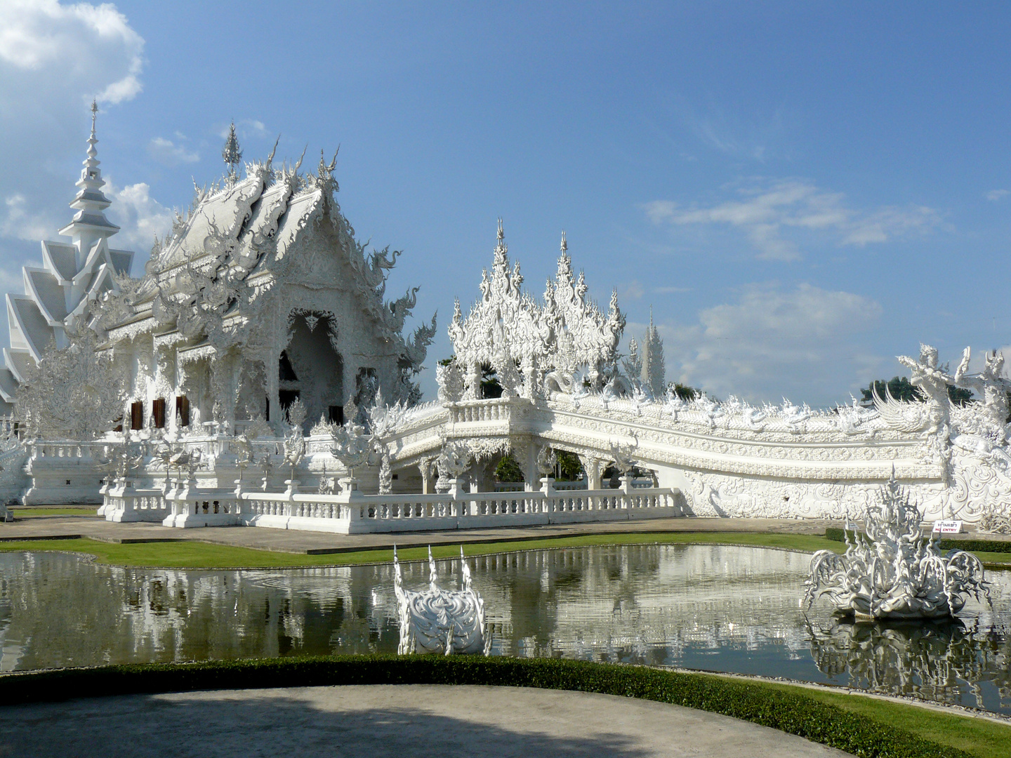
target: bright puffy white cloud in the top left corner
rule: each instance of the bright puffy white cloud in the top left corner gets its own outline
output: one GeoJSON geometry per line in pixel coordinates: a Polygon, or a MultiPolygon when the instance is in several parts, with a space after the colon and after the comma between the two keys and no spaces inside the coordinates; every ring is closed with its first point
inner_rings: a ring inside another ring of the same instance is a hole
{"type": "Polygon", "coordinates": [[[144,39],[114,5],[0,3],[0,93],[30,83],[122,102],[142,89],[143,53],[144,39]]]}

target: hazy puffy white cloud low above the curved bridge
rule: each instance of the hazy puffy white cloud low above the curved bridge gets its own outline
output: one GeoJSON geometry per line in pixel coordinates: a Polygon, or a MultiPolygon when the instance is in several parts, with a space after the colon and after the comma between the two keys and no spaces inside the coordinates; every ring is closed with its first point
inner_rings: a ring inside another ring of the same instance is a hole
{"type": "Polygon", "coordinates": [[[667,379],[755,402],[845,401],[887,364],[860,347],[882,312],[851,292],[748,285],[736,301],[700,311],[697,323],[660,325],[667,379]]]}

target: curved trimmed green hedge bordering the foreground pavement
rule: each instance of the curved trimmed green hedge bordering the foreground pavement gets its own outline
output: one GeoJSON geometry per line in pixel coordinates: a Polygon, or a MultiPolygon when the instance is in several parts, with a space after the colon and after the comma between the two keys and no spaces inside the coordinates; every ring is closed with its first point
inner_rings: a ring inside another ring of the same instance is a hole
{"type": "Polygon", "coordinates": [[[969,753],[746,681],[559,659],[335,656],[58,669],[0,676],[0,704],[155,692],[333,684],[490,684],[641,697],[742,719],[861,758],[969,753]]]}

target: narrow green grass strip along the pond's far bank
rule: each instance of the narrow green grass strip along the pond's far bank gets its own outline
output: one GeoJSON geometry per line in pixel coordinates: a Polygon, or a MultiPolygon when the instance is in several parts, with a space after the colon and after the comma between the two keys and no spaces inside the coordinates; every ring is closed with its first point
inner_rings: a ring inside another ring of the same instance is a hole
{"type": "MultiPolygon", "coordinates": [[[[811,535],[753,532],[645,532],[580,535],[578,537],[532,539],[523,542],[464,543],[463,552],[467,556],[476,556],[527,550],[652,543],[662,545],[748,545],[805,552],[814,552],[823,548],[842,552],[843,549],[839,543],[811,535]]],[[[105,543],[87,538],[80,540],[32,540],[0,543],[0,551],[87,553],[95,556],[99,563],[152,568],[295,568],[299,566],[386,563],[393,560],[393,551],[389,549],[304,555],[241,548],[195,540],[140,544],[105,543]]],[[[432,548],[432,554],[436,558],[453,558],[460,555],[460,548],[457,545],[437,545],[432,548]]],[[[428,557],[428,548],[399,548],[397,555],[403,561],[423,560],[428,557]]]]}

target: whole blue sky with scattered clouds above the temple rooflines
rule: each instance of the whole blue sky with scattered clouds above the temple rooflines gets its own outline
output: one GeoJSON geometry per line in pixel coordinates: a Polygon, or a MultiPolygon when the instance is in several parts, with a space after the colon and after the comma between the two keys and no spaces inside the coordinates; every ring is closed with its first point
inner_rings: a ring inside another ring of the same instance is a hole
{"type": "Polygon", "coordinates": [[[997,3],[0,0],[0,286],[69,218],[99,95],[141,260],[235,119],[247,159],[341,146],[388,291],[439,311],[430,364],[500,215],[534,293],[565,229],[627,337],[652,305],[669,380],[847,401],[920,342],[1011,343],[1009,32],[997,3]]]}

